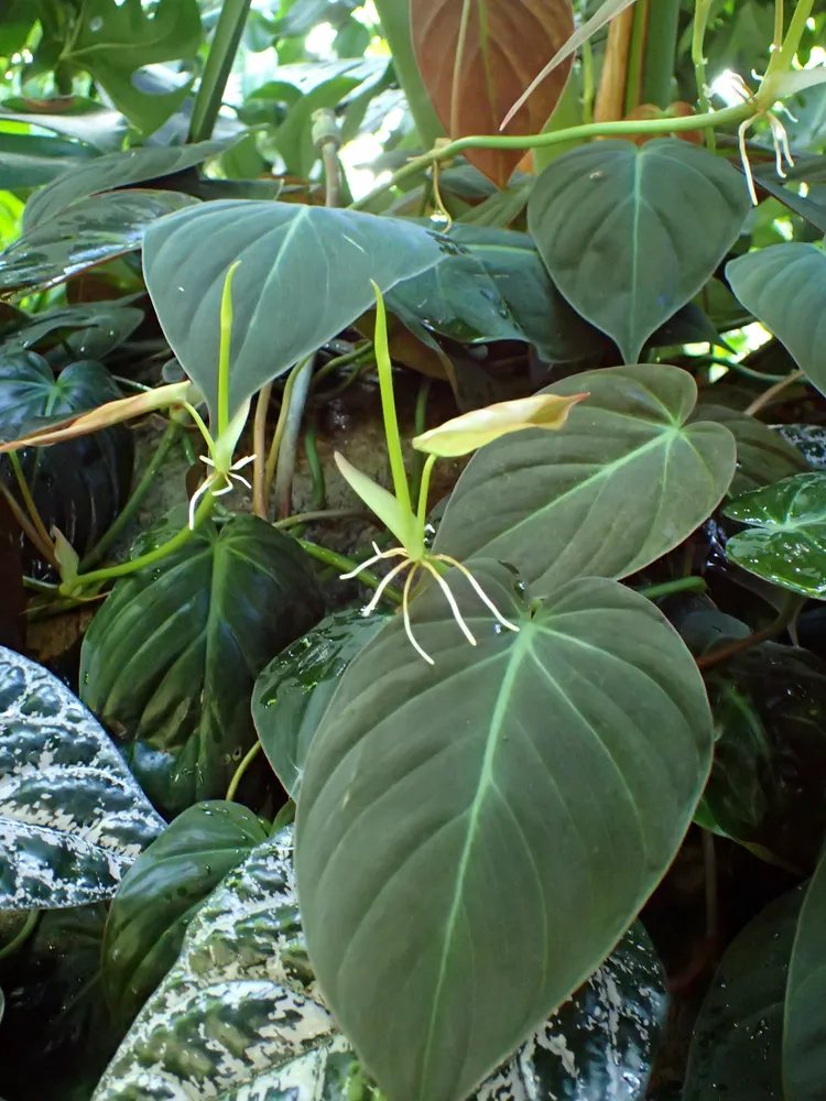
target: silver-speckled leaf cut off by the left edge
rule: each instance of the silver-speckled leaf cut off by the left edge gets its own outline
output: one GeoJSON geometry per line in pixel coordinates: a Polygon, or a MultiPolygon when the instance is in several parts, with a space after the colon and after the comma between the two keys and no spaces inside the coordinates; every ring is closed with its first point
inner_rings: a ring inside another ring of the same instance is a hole
{"type": "Polygon", "coordinates": [[[164,826],[83,704],[0,647],[0,909],[108,898],[164,826]]]}

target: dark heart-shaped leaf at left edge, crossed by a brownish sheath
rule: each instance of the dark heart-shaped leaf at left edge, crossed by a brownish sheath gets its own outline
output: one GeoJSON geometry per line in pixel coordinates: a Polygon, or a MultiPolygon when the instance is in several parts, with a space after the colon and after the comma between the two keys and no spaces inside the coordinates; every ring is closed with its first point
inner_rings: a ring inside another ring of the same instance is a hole
{"type": "MultiPolygon", "coordinates": [[[[0,352],[0,439],[17,439],[50,419],[97,408],[121,397],[100,363],[70,363],[55,378],[33,352],[0,352]]],[[[129,495],[132,434],[120,426],[22,454],[23,471],[44,524],[56,526],[79,554],[107,531],[129,495]]],[[[17,492],[8,459],[0,477],[17,492]]]]}

